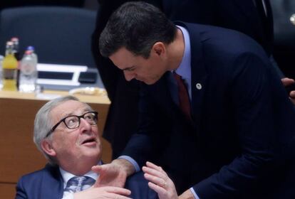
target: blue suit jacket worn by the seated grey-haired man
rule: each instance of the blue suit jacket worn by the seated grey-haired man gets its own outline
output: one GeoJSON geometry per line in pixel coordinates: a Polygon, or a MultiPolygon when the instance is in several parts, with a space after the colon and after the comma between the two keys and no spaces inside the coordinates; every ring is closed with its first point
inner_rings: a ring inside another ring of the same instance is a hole
{"type": "MultiPolygon", "coordinates": [[[[131,190],[131,198],[157,198],[156,193],[148,188],[148,181],[143,178],[143,173],[130,176],[126,181],[125,188],[131,190]]],[[[63,198],[63,178],[58,167],[47,164],[40,171],[22,176],[16,185],[16,198],[63,198]]]]}

